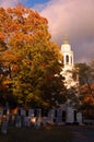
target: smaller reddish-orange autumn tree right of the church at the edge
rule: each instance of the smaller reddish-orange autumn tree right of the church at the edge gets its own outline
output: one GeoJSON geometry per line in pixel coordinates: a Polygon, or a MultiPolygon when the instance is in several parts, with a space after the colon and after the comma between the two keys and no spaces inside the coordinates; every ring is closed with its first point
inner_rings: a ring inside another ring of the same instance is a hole
{"type": "Polygon", "coordinates": [[[94,61],[75,64],[74,73],[79,74],[80,108],[94,118],[94,61]]]}

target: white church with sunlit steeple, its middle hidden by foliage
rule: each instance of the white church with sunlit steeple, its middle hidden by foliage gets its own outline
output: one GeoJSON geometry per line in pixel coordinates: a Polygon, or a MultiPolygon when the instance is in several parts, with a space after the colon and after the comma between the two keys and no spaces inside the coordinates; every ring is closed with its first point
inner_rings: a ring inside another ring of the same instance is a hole
{"type": "MultiPolygon", "coordinates": [[[[74,87],[77,90],[75,95],[79,95],[79,78],[77,76],[75,80],[72,78],[72,70],[74,69],[73,50],[68,40],[62,43],[60,52],[63,58],[61,75],[66,79],[64,85],[68,90],[74,87]]],[[[61,104],[59,108],[51,109],[45,119],[49,123],[82,125],[82,114],[74,108],[74,102],[71,103],[70,99],[68,99],[64,104],[61,104]]]]}

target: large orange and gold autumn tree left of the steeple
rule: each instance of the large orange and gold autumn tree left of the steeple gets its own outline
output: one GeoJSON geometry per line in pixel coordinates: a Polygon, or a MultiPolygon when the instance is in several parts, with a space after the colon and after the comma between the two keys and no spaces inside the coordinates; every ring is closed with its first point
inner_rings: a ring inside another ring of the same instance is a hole
{"type": "Polygon", "coordinates": [[[0,8],[0,32],[7,47],[1,54],[3,82],[17,104],[52,107],[66,100],[62,58],[50,40],[47,20],[22,5],[0,8]]]}

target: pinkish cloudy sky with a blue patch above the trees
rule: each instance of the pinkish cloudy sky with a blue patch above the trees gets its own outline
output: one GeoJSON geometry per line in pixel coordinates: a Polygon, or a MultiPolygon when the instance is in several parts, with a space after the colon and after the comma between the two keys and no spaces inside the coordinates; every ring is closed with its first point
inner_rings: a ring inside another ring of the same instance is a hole
{"type": "Polygon", "coordinates": [[[75,62],[94,60],[94,0],[0,0],[0,5],[19,1],[48,20],[51,39],[59,46],[68,36],[75,62]]]}

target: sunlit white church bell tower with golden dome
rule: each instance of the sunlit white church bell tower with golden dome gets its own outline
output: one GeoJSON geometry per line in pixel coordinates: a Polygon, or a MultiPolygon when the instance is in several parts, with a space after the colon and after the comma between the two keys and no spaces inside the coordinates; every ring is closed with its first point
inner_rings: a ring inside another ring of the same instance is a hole
{"type": "Polygon", "coordinates": [[[72,70],[74,69],[73,63],[73,50],[71,48],[71,45],[66,39],[61,45],[61,55],[63,60],[63,67],[61,74],[66,78],[64,85],[70,88],[72,86],[75,86],[78,84],[78,78],[77,81],[73,80],[72,76],[72,70]]]}

